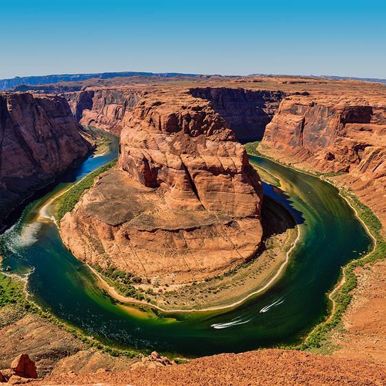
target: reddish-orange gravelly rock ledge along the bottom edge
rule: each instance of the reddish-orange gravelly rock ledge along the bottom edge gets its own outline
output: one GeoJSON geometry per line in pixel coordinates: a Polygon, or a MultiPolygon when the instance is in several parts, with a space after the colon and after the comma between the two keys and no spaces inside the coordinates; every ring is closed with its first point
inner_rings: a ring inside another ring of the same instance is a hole
{"type": "Polygon", "coordinates": [[[190,363],[130,372],[47,378],[32,385],[384,385],[386,368],[365,361],[285,350],[219,354],[190,363]]]}

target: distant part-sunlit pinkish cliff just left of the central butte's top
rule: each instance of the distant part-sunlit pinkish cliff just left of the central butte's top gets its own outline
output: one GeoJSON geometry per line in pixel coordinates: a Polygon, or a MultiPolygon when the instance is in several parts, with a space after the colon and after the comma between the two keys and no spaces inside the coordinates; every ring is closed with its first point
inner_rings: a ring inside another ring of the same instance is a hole
{"type": "Polygon", "coordinates": [[[91,88],[75,93],[64,93],[71,111],[80,124],[104,128],[120,135],[133,114],[135,104],[143,91],[130,88],[91,88]]]}

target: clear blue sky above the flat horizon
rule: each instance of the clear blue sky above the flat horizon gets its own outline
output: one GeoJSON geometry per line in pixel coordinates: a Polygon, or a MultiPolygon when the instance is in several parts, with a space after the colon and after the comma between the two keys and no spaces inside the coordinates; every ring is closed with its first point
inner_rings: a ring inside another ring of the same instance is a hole
{"type": "Polygon", "coordinates": [[[0,79],[109,71],[386,78],[385,16],[385,0],[0,0],[0,79]]]}

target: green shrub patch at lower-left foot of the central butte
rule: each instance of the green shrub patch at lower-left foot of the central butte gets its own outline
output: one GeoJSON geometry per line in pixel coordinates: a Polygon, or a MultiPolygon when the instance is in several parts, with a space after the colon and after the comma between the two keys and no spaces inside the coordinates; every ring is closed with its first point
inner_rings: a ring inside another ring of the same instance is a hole
{"type": "MultiPolygon", "coordinates": [[[[142,282],[141,277],[133,275],[133,273],[126,273],[124,271],[120,271],[120,269],[117,269],[115,268],[115,266],[112,265],[109,266],[108,269],[103,269],[98,264],[91,266],[93,267],[93,269],[95,269],[95,271],[100,273],[100,275],[104,276],[106,279],[109,279],[111,284],[113,284],[114,288],[117,290],[118,293],[120,293],[120,295],[132,297],[133,299],[137,300],[146,300],[146,302],[150,302],[149,297],[145,297],[144,294],[141,293],[141,290],[137,290],[133,285],[131,285],[131,283],[138,284],[142,282]]],[[[148,295],[155,295],[152,290],[147,290],[146,293],[148,295]]],[[[115,304],[117,301],[113,299],[111,300],[111,302],[115,304]]]]}

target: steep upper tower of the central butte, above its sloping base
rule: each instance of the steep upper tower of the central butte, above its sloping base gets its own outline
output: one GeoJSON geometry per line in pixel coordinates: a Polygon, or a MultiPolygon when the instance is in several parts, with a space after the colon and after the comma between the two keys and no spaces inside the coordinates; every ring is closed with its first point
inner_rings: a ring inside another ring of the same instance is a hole
{"type": "Polygon", "coordinates": [[[172,209],[258,216],[260,179],[225,121],[207,101],[186,95],[174,106],[167,98],[139,102],[122,132],[120,168],[142,185],[161,186],[172,209]]]}

